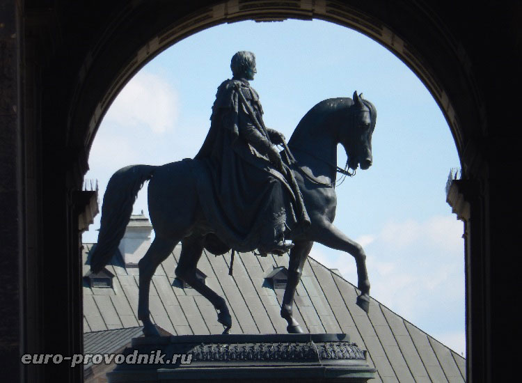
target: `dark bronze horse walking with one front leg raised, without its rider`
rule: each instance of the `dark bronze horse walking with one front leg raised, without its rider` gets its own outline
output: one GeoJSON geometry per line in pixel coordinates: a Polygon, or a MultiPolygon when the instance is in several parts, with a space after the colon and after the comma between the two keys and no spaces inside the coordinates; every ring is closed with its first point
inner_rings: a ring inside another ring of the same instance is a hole
{"type": "MultiPolygon", "coordinates": [[[[335,208],[337,146],[340,143],[347,153],[350,169],[368,169],[372,165],[372,133],[377,111],[373,104],[354,92],[349,97],[331,98],[319,102],[301,119],[288,147],[296,162],[292,171],[299,184],[306,210],[312,224],[296,237],[290,234],[294,247],[290,251],[288,279],[281,307],[281,317],[288,322],[289,333],[302,333],[292,316],[296,286],[314,242],[332,249],[346,251],[354,256],[357,266],[358,289],[361,295],[357,304],[368,312],[370,282],[368,281],[365,253],[358,243],[350,240],[333,226],[335,208]]],[[[284,157],[284,156],[283,156],[284,157]]],[[[287,156],[288,157],[288,156],[287,156]]],[[[163,166],[134,165],[116,171],[109,180],[102,205],[102,219],[97,247],[90,258],[93,272],[99,272],[116,251],[132,214],[132,205],[143,186],[148,186],[148,204],[155,239],[145,256],[139,261],[138,318],[143,322],[145,336],[159,335],[152,325],[149,312],[149,288],[157,266],[182,242],[182,251],[175,274],[209,299],[218,313],[223,334],[232,326],[232,318],[225,299],[196,278],[196,265],[205,241],[212,228],[205,220],[193,174],[194,160],[173,162],[163,166]]],[[[254,250],[254,249],[253,249],[254,250]]]]}

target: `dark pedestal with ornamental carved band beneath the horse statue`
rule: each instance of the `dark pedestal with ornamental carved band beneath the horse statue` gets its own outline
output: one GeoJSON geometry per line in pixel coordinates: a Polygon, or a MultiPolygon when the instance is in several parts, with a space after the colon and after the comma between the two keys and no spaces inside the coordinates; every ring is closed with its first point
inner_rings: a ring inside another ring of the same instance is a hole
{"type": "Polygon", "coordinates": [[[346,334],[134,338],[124,354],[109,383],[367,382],[376,372],[346,334]]]}

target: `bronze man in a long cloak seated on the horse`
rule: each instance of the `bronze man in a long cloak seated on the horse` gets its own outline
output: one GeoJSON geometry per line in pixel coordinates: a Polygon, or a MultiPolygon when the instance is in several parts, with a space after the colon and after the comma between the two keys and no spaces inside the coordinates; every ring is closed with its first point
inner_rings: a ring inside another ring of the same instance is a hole
{"type": "Polygon", "coordinates": [[[218,88],[211,128],[196,159],[205,159],[212,169],[222,207],[212,210],[226,216],[219,223],[226,221],[228,242],[235,242],[230,245],[238,251],[255,244],[262,254],[285,253],[293,246],[285,243],[285,231],[307,228],[310,219],[292,171],[275,146],[285,136],[264,126],[258,93],[248,83],[257,73],[254,54],[237,52],[230,68],[232,79],[218,88]]]}

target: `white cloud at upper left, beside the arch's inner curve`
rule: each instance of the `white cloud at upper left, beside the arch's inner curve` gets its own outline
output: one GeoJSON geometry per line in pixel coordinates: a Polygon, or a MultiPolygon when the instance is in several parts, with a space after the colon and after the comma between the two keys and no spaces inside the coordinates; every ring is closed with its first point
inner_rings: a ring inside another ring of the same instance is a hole
{"type": "Polygon", "coordinates": [[[159,134],[172,130],[178,114],[174,89],[158,75],[141,70],[122,89],[104,120],[125,127],[148,127],[159,134]]]}

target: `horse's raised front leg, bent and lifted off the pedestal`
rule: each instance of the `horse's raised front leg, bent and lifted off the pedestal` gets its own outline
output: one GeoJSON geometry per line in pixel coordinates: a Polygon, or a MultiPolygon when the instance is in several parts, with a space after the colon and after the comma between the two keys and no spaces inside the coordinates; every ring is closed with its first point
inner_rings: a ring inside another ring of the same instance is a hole
{"type": "Polygon", "coordinates": [[[357,305],[364,311],[370,311],[370,281],[366,270],[366,254],[357,242],[350,240],[329,221],[322,220],[313,231],[315,242],[324,244],[335,250],[345,251],[355,258],[357,267],[357,288],[361,295],[357,297],[357,305]]]}

